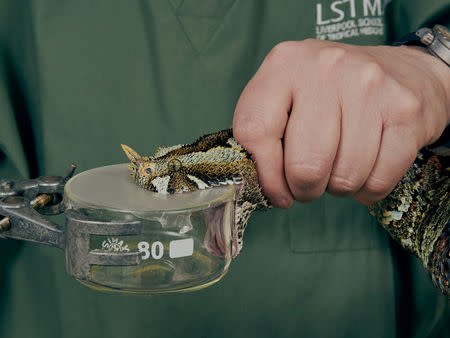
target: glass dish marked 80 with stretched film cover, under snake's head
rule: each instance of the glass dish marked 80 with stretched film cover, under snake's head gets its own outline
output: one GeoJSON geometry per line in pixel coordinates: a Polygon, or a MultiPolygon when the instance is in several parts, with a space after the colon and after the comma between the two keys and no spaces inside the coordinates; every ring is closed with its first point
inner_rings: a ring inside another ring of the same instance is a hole
{"type": "Polygon", "coordinates": [[[162,293],[211,285],[230,266],[234,194],[233,185],[173,195],[150,192],[135,184],[125,164],[85,171],[64,191],[67,208],[93,221],[92,228],[88,221],[67,223],[67,270],[104,290],[162,293]],[[99,229],[95,221],[105,226],[99,229]],[[129,231],[115,230],[117,221],[130,222],[129,231]],[[139,226],[133,228],[133,221],[139,226]],[[97,265],[95,259],[78,260],[83,250],[98,257],[134,253],[137,259],[124,265],[103,259],[97,265]]]}

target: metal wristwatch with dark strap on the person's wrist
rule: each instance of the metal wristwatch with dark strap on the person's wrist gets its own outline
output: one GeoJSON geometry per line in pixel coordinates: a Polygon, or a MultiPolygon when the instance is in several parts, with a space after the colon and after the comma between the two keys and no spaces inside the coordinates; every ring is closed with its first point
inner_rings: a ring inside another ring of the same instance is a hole
{"type": "Polygon", "coordinates": [[[420,28],[394,42],[394,46],[425,46],[428,51],[450,67],[450,32],[442,25],[420,28]]]}

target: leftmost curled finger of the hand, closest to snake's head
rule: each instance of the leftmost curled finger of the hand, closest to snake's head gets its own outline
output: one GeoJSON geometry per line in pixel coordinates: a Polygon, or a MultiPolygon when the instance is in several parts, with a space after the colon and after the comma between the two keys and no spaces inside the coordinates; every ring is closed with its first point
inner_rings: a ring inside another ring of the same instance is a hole
{"type": "Polygon", "coordinates": [[[236,106],[233,135],[256,161],[260,185],[274,206],[293,202],[283,166],[285,126],[291,107],[288,76],[271,62],[264,62],[245,87],[236,106]]]}

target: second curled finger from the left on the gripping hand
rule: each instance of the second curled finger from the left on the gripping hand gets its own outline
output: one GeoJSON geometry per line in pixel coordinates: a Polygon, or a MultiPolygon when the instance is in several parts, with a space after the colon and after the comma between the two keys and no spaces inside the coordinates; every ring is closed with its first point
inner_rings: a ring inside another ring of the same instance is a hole
{"type": "Polygon", "coordinates": [[[285,172],[295,199],[308,202],[325,191],[340,137],[340,104],[322,85],[302,88],[285,133],[285,172]]]}

